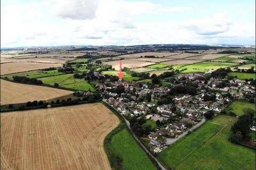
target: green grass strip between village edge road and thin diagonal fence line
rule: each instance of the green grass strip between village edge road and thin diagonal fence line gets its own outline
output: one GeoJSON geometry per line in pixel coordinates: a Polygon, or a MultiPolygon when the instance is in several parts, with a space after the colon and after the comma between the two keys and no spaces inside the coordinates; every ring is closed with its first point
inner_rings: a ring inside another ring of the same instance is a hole
{"type": "Polygon", "coordinates": [[[212,137],[222,128],[222,125],[206,122],[198,130],[192,132],[187,137],[183,137],[179,141],[173,143],[167,149],[158,154],[157,158],[168,167],[178,165],[181,160],[186,157],[190,152],[212,137]]]}

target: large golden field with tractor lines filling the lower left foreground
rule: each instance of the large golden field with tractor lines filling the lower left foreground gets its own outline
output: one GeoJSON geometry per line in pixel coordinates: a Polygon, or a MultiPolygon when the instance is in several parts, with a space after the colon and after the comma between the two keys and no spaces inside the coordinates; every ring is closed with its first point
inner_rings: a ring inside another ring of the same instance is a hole
{"type": "Polygon", "coordinates": [[[119,124],[102,104],[1,113],[1,169],[111,169],[103,148],[119,124]]]}

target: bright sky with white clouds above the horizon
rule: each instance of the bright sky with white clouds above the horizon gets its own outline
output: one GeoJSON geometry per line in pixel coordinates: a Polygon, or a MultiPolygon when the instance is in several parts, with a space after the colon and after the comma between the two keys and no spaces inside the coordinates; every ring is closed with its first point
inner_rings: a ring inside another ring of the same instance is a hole
{"type": "Polygon", "coordinates": [[[1,0],[1,47],[255,45],[255,0],[1,0]]]}

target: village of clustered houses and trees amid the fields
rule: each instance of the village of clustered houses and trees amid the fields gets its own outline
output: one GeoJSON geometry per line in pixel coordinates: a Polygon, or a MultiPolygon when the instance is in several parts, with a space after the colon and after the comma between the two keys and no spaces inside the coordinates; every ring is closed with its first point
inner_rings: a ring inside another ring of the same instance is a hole
{"type": "Polygon", "coordinates": [[[225,114],[225,108],[232,100],[255,94],[255,87],[245,80],[220,80],[212,77],[206,83],[201,73],[183,74],[174,78],[177,84],[172,83],[171,86],[193,83],[196,92],[193,95],[173,94],[169,86],[137,81],[111,82],[108,79],[97,86],[108,104],[116,108],[126,120],[136,117],[156,123],[156,128],[141,136],[146,146],[155,153],[203,124],[206,112],[212,111],[214,116],[225,114]],[[222,82],[227,83],[225,87],[219,88],[222,82]]]}

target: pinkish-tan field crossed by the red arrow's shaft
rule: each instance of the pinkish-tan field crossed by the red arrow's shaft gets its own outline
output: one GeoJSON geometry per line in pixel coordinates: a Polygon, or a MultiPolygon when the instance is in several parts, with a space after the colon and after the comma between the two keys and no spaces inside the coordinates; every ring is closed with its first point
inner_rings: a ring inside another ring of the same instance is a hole
{"type": "MultiPolygon", "coordinates": [[[[102,62],[103,64],[112,65],[115,70],[119,70],[119,60],[117,61],[111,61],[111,62],[102,62]]],[[[147,65],[151,65],[150,62],[141,62],[141,61],[130,61],[130,60],[122,60],[122,67],[128,67],[128,68],[137,68],[137,67],[143,67],[147,65]]]]}

